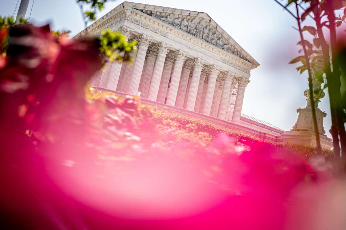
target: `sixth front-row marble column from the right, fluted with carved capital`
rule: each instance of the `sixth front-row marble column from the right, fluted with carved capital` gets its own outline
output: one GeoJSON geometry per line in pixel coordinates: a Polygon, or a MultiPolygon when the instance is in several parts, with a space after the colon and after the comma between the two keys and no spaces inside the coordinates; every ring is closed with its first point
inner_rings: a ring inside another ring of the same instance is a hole
{"type": "Polygon", "coordinates": [[[148,99],[152,101],[156,101],[158,89],[160,87],[162,71],[166,59],[167,52],[169,50],[169,46],[165,43],[160,43],[157,48],[157,57],[155,61],[155,67],[152,75],[152,79],[150,82],[148,99]]]}

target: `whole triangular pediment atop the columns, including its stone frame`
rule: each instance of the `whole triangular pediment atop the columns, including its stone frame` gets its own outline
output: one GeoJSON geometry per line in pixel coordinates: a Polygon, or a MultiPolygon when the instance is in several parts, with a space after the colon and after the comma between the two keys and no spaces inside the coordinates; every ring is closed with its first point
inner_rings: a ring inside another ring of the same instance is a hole
{"type": "Polygon", "coordinates": [[[255,66],[259,66],[207,13],[133,2],[124,2],[123,4],[183,30],[228,53],[232,53],[255,66]]]}

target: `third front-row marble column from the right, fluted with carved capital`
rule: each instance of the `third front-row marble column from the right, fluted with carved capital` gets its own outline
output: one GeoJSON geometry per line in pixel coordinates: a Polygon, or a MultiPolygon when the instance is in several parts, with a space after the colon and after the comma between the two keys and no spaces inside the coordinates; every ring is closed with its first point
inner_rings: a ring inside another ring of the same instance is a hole
{"type": "Polygon", "coordinates": [[[202,110],[202,113],[206,114],[208,116],[210,115],[211,104],[213,102],[216,78],[217,78],[220,70],[221,70],[221,68],[218,66],[215,66],[215,65],[212,65],[210,67],[208,86],[207,86],[207,91],[205,94],[205,99],[204,99],[204,103],[203,103],[203,110],[202,110]]]}

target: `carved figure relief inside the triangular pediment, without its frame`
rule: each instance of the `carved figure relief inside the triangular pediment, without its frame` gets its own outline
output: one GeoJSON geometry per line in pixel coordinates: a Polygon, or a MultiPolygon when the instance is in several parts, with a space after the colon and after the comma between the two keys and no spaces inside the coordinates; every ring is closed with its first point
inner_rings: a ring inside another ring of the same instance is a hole
{"type": "Polygon", "coordinates": [[[248,61],[220,32],[202,18],[155,11],[151,11],[149,15],[248,61]]]}

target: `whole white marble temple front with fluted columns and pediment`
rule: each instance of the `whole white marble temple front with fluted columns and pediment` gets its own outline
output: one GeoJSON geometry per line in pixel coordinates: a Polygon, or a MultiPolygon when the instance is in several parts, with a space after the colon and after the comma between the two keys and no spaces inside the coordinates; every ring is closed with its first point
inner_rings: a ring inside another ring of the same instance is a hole
{"type": "Polygon", "coordinates": [[[250,70],[259,64],[208,14],[124,2],[76,37],[99,36],[108,28],[137,40],[135,61],[110,63],[92,86],[140,92],[148,100],[227,120],[237,85],[231,117],[240,123],[250,70]]]}

